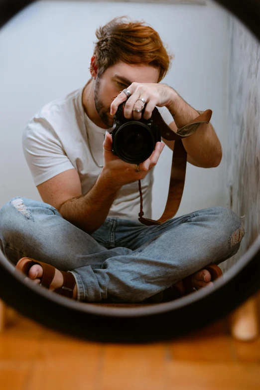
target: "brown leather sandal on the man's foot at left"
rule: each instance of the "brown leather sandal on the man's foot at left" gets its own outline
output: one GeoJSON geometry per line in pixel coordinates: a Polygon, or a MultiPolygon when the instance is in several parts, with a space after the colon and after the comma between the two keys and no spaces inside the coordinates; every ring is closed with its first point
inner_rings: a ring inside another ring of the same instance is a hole
{"type": "MultiPolygon", "coordinates": [[[[47,263],[42,263],[41,261],[31,259],[30,257],[22,257],[16,264],[15,269],[28,276],[29,269],[34,264],[40,265],[43,270],[42,277],[40,278],[41,280],[40,286],[49,289],[55,275],[55,267],[53,267],[52,265],[47,263]]],[[[71,272],[64,272],[64,271],[60,271],[60,272],[63,275],[63,285],[53,290],[53,292],[59,295],[63,295],[67,298],[72,298],[76,280],[71,272]]]]}

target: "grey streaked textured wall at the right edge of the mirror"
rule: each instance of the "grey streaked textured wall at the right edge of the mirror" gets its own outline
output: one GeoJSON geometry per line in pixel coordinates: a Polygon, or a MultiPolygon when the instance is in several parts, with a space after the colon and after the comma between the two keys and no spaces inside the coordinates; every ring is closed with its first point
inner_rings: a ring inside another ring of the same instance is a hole
{"type": "Polygon", "coordinates": [[[245,253],[260,232],[260,44],[233,17],[230,39],[228,206],[245,215],[246,235],[225,269],[245,253]]]}

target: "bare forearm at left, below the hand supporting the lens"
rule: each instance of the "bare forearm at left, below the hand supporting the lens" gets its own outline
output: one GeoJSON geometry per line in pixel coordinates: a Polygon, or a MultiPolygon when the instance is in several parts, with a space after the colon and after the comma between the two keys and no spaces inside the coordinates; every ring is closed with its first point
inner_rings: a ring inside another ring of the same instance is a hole
{"type": "Polygon", "coordinates": [[[92,234],[105,221],[119,190],[101,172],[96,184],[87,194],[67,200],[59,212],[64,219],[92,234]]]}

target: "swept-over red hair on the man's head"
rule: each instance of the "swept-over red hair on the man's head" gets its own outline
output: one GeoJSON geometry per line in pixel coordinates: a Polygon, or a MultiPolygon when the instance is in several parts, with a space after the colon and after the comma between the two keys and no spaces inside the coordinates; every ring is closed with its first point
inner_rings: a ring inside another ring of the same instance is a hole
{"type": "Polygon", "coordinates": [[[101,76],[119,61],[131,65],[153,66],[159,70],[160,82],[168,72],[173,55],[168,54],[159,34],[144,21],[125,21],[116,17],[96,30],[94,55],[101,76]]]}

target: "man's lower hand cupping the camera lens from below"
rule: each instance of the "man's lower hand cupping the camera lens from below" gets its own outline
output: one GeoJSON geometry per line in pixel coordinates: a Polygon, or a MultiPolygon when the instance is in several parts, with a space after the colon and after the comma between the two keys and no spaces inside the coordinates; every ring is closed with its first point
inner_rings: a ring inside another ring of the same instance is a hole
{"type": "Polygon", "coordinates": [[[112,136],[107,132],[103,143],[104,167],[101,176],[113,184],[114,188],[118,189],[125,184],[141,180],[157,164],[164,146],[163,142],[156,142],[150,157],[139,164],[140,172],[135,172],[135,164],[126,163],[112,152],[112,136]]]}

